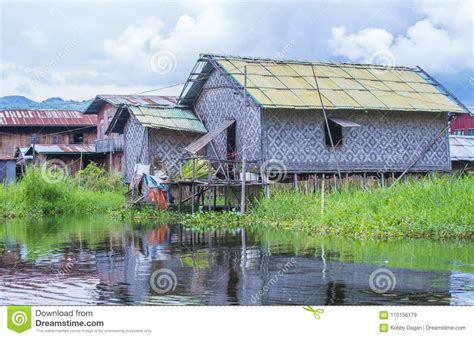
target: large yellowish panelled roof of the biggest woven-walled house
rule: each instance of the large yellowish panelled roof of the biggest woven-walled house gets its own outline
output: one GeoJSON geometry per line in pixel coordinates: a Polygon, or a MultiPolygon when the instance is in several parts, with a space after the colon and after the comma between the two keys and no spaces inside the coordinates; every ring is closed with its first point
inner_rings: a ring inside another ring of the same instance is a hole
{"type": "Polygon", "coordinates": [[[444,87],[421,69],[378,65],[278,61],[201,55],[179,103],[191,106],[214,67],[223,69],[265,108],[440,111],[464,113],[444,87]],[[244,67],[247,67],[245,81],[244,67]],[[317,82],[316,82],[317,81],[317,82]],[[321,98],[318,93],[318,88],[321,98]]]}

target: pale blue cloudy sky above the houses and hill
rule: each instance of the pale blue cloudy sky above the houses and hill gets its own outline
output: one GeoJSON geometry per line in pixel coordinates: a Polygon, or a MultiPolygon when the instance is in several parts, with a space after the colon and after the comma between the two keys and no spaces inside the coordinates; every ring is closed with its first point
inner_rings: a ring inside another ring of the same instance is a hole
{"type": "Polygon", "coordinates": [[[473,2],[0,0],[0,96],[179,94],[212,52],[419,65],[474,106],[473,2]]]}

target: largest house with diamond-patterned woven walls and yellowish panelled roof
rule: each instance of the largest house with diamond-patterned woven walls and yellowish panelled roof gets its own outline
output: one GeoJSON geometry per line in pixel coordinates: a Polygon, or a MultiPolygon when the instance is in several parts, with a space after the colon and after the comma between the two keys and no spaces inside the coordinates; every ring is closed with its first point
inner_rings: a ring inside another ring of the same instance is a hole
{"type": "Polygon", "coordinates": [[[208,155],[294,174],[449,171],[448,114],[468,111],[421,68],[211,54],[178,104],[217,130],[208,155]]]}

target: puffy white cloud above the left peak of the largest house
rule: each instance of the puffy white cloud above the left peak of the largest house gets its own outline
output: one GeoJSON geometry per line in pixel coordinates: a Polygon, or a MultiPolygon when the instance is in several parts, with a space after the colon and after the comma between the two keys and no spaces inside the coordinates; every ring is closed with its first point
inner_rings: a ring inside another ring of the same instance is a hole
{"type": "MultiPolygon", "coordinates": [[[[178,70],[182,72],[179,75],[184,82],[185,72],[189,71],[199,53],[224,51],[230,46],[236,29],[232,29],[232,18],[226,14],[219,6],[207,5],[196,14],[181,15],[168,30],[158,19],[128,26],[117,37],[104,41],[106,58],[99,62],[105,67],[120,67],[122,79],[153,84],[158,75],[171,77],[173,74],[169,73],[178,70]],[[171,57],[156,58],[159,54],[171,57]],[[163,66],[152,64],[156,62],[172,62],[173,65],[167,68],[169,72],[156,72],[163,66]]],[[[120,81],[119,78],[116,80],[120,81]]]]}

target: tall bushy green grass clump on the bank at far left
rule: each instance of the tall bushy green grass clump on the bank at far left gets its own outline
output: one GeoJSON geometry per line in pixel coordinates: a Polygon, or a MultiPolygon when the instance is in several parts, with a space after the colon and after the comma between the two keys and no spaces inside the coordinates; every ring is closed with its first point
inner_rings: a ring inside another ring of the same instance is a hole
{"type": "Polygon", "coordinates": [[[0,186],[0,213],[34,217],[109,212],[123,206],[123,193],[120,179],[95,164],[54,183],[40,169],[28,168],[18,182],[0,186]]]}

